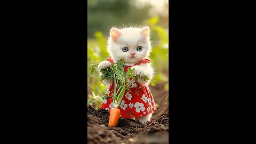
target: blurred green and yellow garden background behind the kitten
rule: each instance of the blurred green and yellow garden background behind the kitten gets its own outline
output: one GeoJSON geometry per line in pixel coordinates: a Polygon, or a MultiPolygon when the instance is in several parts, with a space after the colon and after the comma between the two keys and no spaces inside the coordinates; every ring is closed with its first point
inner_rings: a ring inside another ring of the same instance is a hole
{"type": "MultiPolygon", "coordinates": [[[[149,58],[156,71],[155,86],[165,83],[163,90],[168,91],[168,1],[91,0],[87,3],[87,52],[92,60],[100,63],[109,57],[106,42],[112,26],[147,25],[153,42],[149,58]]],[[[89,78],[87,105],[98,109],[108,86],[100,82],[99,70],[96,69],[89,78]]]]}

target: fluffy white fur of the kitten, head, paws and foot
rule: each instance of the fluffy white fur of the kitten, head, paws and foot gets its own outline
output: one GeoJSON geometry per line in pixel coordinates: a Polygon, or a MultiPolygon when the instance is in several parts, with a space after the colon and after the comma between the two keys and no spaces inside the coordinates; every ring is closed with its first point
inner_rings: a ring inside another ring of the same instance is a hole
{"type": "MultiPolygon", "coordinates": [[[[133,66],[135,63],[148,58],[151,51],[149,32],[149,27],[112,28],[110,30],[107,46],[110,57],[114,62],[119,59],[124,59],[125,65],[128,66],[133,66]],[[142,47],[141,51],[137,50],[138,46],[142,47]],[[128,48],[127,52],[122,50],[124,47],[128,48]]],[[[99,70],[109,67],[110,64],[109,61],[102,61],[99,64],[99,70]]],[[[141,63],[139,66],[133,66],[132,68],[135,69],[134,74],[148,76],[150,79],[153,78],[154,70],[150,63],[141,63]]],[[[112,83],[113,79],[105,80],[105,82],[112,83]]],[[[138,83],[148,85],[149,80],[143,81],[143,79],[139,78],[138,83]]],[[[135,119],[145,124],[147,121],[150,121],[151,114],[135,119]]]]}

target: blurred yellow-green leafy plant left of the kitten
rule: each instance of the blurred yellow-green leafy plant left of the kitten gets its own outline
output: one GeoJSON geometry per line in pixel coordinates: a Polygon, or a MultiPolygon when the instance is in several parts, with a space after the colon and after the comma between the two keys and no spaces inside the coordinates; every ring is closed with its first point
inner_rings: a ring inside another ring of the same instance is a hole
{"type": "Polygon", "coordinates": [[[87,42],[87,106],[98,109],[102,102],[102,96],[107,91],[107,85],[100,81],[98,64],[108,58],[106,39],[100,31],[94,34],[96,39],[88,39],[87,42]],[[92,60],[93,59],[93,60],[92,60]]]}

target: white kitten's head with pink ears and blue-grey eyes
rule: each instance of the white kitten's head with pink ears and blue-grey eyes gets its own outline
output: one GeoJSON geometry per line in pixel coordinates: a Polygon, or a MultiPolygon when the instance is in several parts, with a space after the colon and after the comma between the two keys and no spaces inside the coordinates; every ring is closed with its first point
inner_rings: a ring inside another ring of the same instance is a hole
{"type": "Polygon", "coordinates": [[[151,50],[149,27],[112,28],[107,50],[114,61],[124,59],[127,63],[136,63],[147,58],[151,50]]]}

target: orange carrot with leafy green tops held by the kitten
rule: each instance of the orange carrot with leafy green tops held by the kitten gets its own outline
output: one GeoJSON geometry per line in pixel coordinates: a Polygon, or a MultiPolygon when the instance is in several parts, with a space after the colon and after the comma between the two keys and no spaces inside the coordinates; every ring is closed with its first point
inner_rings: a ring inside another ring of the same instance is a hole
{"type": "MultiPolygon", "coordinates": [[[[95,71],[95,67],[98,67],[99,63],[94,62],[91,60],[91,57],[87,57],[87,76],[90,76],[95,71]]],[[[139,78],[139,76],[134,75],[134,69],[129,68],[127,73],[124,70],[125,62],[123,59],[118,60],[114,63],[112,63],[107,69],[101,70],[101,79],[102,82],[104,79],[113,78],[114,79],[114,93],[112,94],[112,97],[109,97],[109,95],[105,95],[103,99],[111,98],[113,99],[114,107],[110,109],[109,111],[109,123],[108,127],[116,127],[117,122],[119,120],[119,116],[121,111],[118,109],[119,104],[121,103],[124,93],[126,91],[130,91],[129,84],[139,78]],[[132,79],[131,79],[132,78],[132,79]],[[128,80],[131,79],[131,81],[128,82],[128,80]]],[[[148,80],[149,77],[143,76],[141,77],[143,80],[148,80]]],[[[151,79],[150,79],[151,80],[151,79]]],[[[151,85],[154,85],[154,82],[150,81],[151,85]]]]}

